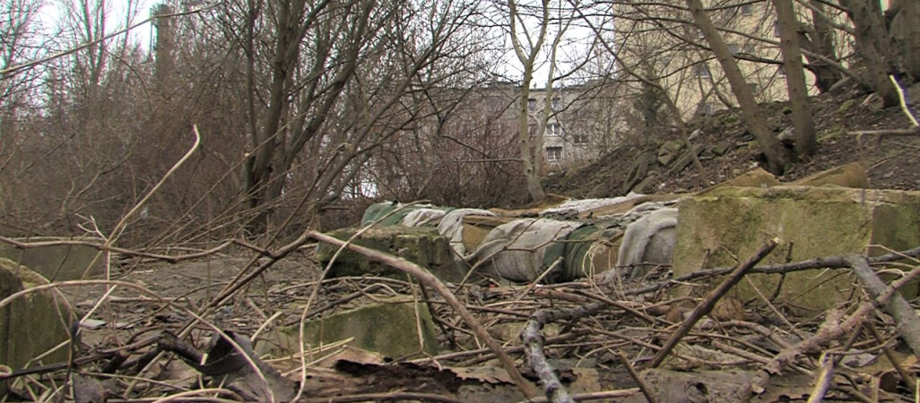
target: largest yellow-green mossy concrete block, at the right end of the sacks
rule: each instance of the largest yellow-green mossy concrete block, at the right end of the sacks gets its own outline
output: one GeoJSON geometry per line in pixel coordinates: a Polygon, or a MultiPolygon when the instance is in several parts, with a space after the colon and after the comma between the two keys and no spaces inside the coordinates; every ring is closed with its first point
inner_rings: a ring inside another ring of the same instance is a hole
{"type": "MultiPolygon", "coordinates": [[[[920,245],[920,192],[862,190],[842,187],[775,186],[719,187],[684,198],[680,204],[674,276],[699,269],[733,266],[764,241],[782,242],[761,264],[785,263],[851,252],[880,244],[893,250],[920,245]]],[[[878,248],[873,248],[878,252],[878,248]]],[[[779,287],[774,301],[801,315],[848,300],[857,280],[848,270],[810,270],[787,274],[750,274],[765,296],[779,287]]],[[[713,280],[713,283],[720,279],[713,280]]],[[[704,294],[709,287],[696,287],[704,294]]],[[[690,290],[683,287],[680,295],[690,290]]],[[[916,286],[902,289],[916,295],[916,286]]],[[[751,285],[742,281],[730,296],[762,303],[751,285]]]]}

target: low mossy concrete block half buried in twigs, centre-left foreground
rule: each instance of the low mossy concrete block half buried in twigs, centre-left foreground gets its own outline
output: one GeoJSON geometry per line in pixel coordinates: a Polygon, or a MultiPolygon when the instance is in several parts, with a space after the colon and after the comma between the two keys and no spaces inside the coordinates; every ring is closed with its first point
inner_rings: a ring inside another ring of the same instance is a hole
{"type": "MultiPolygon", "coordinates": [[[[279,340],[274,341],[278,343],[274,349],[260,346],[257,350],[276,355],[296,352],[299,330],[296,325],[284,328],[279,340]]],[[[304,324],[305,349],[351,338],[348,344],[352,347],[394,359],[438,353],[437,331],[431,312],[424,304],[407,298],[340,312],[304,324]]]]}

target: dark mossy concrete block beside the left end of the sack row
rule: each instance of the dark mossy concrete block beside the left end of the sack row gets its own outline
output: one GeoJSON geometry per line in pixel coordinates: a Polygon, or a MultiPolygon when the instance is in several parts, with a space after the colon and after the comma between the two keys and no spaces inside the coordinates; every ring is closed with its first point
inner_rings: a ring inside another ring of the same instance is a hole
{"type": "MultiPolygon", "coordinates": [[[[329,232],[329,235],[339,240],[348,240],[356,231],[357,229],[337,229],[329,232]]],[[[464,273],[454,262],[450,245],[438,234],[438,229],[397,225],[372,228],[365,231],[354,243],[417,263],[443,281],[459,282],[464,277],[464,273]]],[[[338,247],[320,243],[316,250],[316,258],[327,264],[338,250],[338,247]]],[[[405,278],[405,274],[396,269],[372,262],[361,254],[348,250],[339,254],[329,270],[329,275],[333,277],[365,274],[405,278]]]]}

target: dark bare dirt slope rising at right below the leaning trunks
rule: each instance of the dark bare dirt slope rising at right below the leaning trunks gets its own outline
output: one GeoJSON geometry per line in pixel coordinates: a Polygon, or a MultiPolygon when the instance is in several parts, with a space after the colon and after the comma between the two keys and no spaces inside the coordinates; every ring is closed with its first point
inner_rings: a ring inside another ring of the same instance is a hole
{"type": "MultiPolygon", "coordinates": [[[[920,84],[910,95],[920,95],[920,84]]],[[[914,96],[911,107],[920,109],[914,96]]],[[[908,129],[910,121],[900,108],[880,107],[874,95],[854,87],[833,94],[812,98],[812,111],[818,130],[818,154],[811,161],[796,162],[780,181],[788,182],[849,162],[862,162],[868,170],[873,188],[920,189],[920,135],[875,136],[857,138],[854,131],[875,129],[908,129]]],[[[769,124],[775,133],[791,128],[788,105],[771,103],[765,107],[769,124]]],[[[743,174],[762,164],[763,153],[744,127],[739,110],[718,112],[710,117],[690,122],[690,132],[699,129],[693,144],[704,146],[699,159],[704,172],[694,165],[671,175],[661,174],[646,187],[645,193],[695,191],[743,174]],[[724,151],[719,155],[716,151],[724,151]]],[[[623,183],[643,152],[656,152],[666,140],[679,140],[677,133],[656,139],[633,141],[604,155],[597,162],[568,173],[546,178],[550,193],[585,197],[609,197],[624,194],[623,183]]],[[[665,169],[659,170],[663,173],[665,169]]]]}

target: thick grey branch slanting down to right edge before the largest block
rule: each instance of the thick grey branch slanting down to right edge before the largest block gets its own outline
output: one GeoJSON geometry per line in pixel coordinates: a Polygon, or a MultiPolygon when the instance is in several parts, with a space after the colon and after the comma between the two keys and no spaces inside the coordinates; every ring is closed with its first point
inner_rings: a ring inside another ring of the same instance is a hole
{"type": "MultiPolygon", "coordinates": [[[[853,267],[853,273],[857,274],[859,282],[866,288],[868,295],[878,298],[885,293],[888,285],[881,281],[878,275],[872,271],[866,262],[866,258],[857,254],[849,254],[845,257],[846,262],[853,267]]],[[[920,266],[914,269],[920,271],[920,266]]],[[[894,322],[898,330],[901,330],[901,338],[914,352],[914,355],[920,357],[920,318],[914,313],[914,308],[900,293],[893,293],[891,300],[881,307],[885,310],[894,322]]]]}

